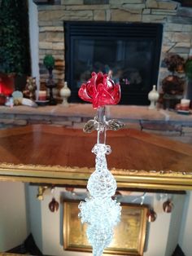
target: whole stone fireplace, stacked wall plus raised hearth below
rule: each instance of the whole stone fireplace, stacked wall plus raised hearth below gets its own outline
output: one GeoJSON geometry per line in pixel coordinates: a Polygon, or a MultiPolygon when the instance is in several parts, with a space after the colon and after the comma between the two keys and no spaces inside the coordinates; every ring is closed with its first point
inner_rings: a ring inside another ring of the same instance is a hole
{"type": "MultiPolygon", "coordinates": [[[[192,55],[192,8],[181,7],[179,2],[165,0],[108,0],[109,4],[106,5],[85,5],[84,1],[61,0],[57,5],[36,5],[28,0],[32,75],[39,77],[40,74],[41,88],[47,78],[47,72],[42,65],[46,54],[52,54],[55,57],[54,75],[58,89],[65,79],[63,20],[162,23],[164,24],[164,39],[161,60],[164,59],[166,52],[174,52],[185,58],[192,55]]],[[[167,68],[160,65],[159,90],[161,80],[167,74],[167,68]]],[[[108,109],[110,109],[110,117],[122,119],[124,123],[129,124],[129,127],[133,125],[133,128],[137,129],[141,129],[140,121],[142,120],[159,121],[160,124],[163,121],[165,125],[167,121],[171,121],[173,126],[184,127],[182,128],[183,135],[190,132],[186,142],[192,143],[191,115],[186,117],[169,111],[164,112],[162,109],[149,111],[147,107],[142,106],[121,105],[111,106],[108,109]]],[[[39,108],[2,106],[0,108],[0,129],[32,123],[82,128],[90,117],[94,117],[94,111],[89,104],[72,104],[70,108],[63,108],[61,104],[39,108]]],[[[178,132],[177,138],[184,140],[184,136],[178,132]]]]}

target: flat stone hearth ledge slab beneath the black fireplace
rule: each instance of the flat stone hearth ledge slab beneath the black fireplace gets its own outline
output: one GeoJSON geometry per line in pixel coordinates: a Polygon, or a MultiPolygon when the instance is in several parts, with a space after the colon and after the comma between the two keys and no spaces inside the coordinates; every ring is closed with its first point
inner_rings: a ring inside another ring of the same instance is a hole
{"type": "MultiPolygon", "coordinates": [[[[63,107],[62,104],[56,106],[44,106],[31,108],[28,106],[15,106],[13,108],[0,107],[0,117],[18,116],[21,118],[31,116],[35,117],[82,117],[85,120],[93,118],[96,111],[92,108],[91,104],[69,104],[69,107],[63,107]]],[[[192,125],[192,115],[181,115],[175,111],[164,109],[149,109],[147,106],[134,106],[134,105],[116,105],[107,106],[107,118],[118,118],[127,121],[169,121],[172,123],[181,123],[182,125],[192,125]]],[[[41,118],[39,118],[41,120],[41,118]]]]}

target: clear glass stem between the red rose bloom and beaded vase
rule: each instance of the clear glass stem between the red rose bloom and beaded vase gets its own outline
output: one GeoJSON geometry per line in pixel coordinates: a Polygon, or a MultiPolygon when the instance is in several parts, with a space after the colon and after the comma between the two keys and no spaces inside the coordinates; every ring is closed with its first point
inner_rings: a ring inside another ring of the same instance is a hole
{"type": "Polygon", "coordinates": [[[105,107],[98,108],[98,142],[97,143],[106,143],[106,124],[105,124],[105,107]]]}

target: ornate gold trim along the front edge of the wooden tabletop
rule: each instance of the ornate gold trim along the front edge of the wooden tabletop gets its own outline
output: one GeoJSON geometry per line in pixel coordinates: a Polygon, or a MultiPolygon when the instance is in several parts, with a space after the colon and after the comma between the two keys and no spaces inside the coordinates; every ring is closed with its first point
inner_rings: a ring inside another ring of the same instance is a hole
{"type": "MultiPolygon", "coordinates": [[[[85,186],[94,168],[0,164],[0,181],[85,186]]],[[[112,169],[118,188],[191,190],[192,173],[164,170],[112,169]]]]}

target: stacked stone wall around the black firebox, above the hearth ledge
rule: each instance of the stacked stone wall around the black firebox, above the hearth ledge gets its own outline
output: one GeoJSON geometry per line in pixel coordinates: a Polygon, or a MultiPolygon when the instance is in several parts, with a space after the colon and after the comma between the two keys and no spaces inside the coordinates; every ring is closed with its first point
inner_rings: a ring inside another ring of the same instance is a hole
{"type": "MultiPolygon", "coordinates": [[[[61,0],[55,5],[36,6],[38,55],[37,48],[31,48],[33,76],[38,77],[38,68],[34,68],[35,60],[33,60],[33,53],[36,51],[34,55],[36,54],[38,58],[36,62],[39,63],[41,88],[45,86],[47,79],[47,72],[42,64],[46,54],[52,54],[56,60],[54,76],[58,91],[63,85],[65,79],[64,20],[161,23],[164,25],[161,60],[167,52],[179,54],[185,59],[192,55],[192,8],[190,7],[181,7],[179,2],[171,0],[109,0],[108,4],[84,4],[84,2],[91,1],[61,0]]],[[[167,68],[160,64],[159,90],[161,80],[167,75],[167,68]]]]}

